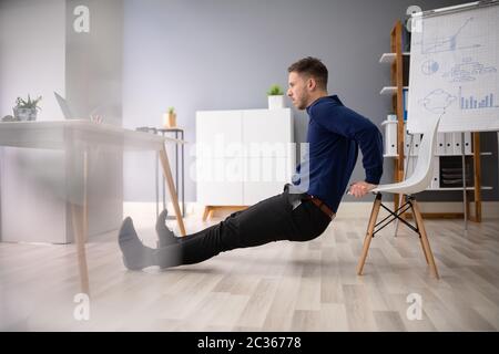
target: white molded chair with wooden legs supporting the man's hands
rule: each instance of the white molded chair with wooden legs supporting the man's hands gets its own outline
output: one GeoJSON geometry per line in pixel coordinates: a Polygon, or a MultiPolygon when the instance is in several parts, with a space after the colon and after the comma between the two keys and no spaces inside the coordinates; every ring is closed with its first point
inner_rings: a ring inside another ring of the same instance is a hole
{"type": "Polygon", "coordinates": [[[421,212],[419,211],[418,204],[416,202],[415,194],[425,190],[432,177],[432,170],[434,170],[434,156],[435,156],[435,148],[436,148],[436,140],[437,140],[437,131],[438,125],[440,123],[441,115],[438,118],[435,118],[435,122],[431,122],[428,126],[428,131],[424,133],[421,144],[419,145],[419,153],[418,153],[418,159],[416,163],[416,167],[414,169],[414,174],[396,184],[389,184],[389,185],[379,185],[377,188],[373,189],[373,192],[376,194],[376,199],[373,205],[373,210],[370,212],[369,218],[369,225],[367,227],[367,233],[366,238],[364,240],[364,248],[363,253],[360,256],[360,260],[358,262],[357,267],[357,274],[361,275],[364,264],[366,262],[367,252],[369,250],[370,240],[374,238],[376,232],[385,228],[387,225],[389,225],[394,220],[400,220],[404,225],[409,227],[413,231],[419,235],[419,240],[421,242],[422,252],[426,258],[426,262],[430,266],[435,277],[437,279],[439,278],[437,266],[435,264],[434,254],[431,252],[430,244],[428,242],[428,237],[425,230],[425,225],[422,222],[421,212]],[[400,194],[407,196],[407,201],[400,206],[397,210],[393,211],[388,209],[385,205],[381,202],[381,197],[384,192],[390,192],[390,194],[400,194]],[[387,216],[385,219],[376,223],[376,219],[379,214],[379,208],[383,207],[386,209],[390,215],[387,216]],[[407,210],[411,209],[416,226],[410,225],[405,219],[400,218],[400,215],[406,212],[407,210]],[[387,219],[391,218],[390,220],[386,221],[387,219]],[[386,221],[386,222],[385,222],[386,221]],[[385,223],[384,223],[385,222],[385,223]],[[377,229],[376,229],[377,228],[377,229]]]}

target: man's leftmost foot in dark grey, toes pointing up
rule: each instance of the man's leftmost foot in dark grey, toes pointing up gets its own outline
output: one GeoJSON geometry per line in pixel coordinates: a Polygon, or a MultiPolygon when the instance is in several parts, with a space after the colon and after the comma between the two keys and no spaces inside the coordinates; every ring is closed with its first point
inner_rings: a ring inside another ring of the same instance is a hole
{"type": "Polygon", "coordinates": [[[130,217],[126,217],[121,225],[118,243],[123,252],[123,262],[128,269],[141,270],[154,266],[154,250],[145,247],[139,239],[130,217]]]}

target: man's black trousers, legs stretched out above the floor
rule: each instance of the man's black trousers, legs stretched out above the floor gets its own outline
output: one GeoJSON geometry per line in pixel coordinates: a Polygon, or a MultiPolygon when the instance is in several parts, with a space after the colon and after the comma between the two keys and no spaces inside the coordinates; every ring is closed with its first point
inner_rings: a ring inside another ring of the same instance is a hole
{"type": "Polygon", "coordinates": [[[305,194],[289,194],[289,185],[277,196],[231,214],[225,220],[180,238],[176,244],[154,251],[161,268],[193,264],[220,252],[265,244],[272,241],[309,241],[324,232],[332,219],[310,200],[295,209],[292,202],[305,194]]]}

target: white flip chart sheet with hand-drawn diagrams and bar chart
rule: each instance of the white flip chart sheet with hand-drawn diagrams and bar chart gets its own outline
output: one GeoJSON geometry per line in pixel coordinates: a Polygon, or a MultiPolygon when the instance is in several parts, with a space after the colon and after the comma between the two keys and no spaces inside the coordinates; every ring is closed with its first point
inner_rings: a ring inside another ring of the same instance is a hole
{"type": "Polygon", "coordinates": [[[407,128],[499,131],[499,2],[420,13],[411,33],[407,128]]]}

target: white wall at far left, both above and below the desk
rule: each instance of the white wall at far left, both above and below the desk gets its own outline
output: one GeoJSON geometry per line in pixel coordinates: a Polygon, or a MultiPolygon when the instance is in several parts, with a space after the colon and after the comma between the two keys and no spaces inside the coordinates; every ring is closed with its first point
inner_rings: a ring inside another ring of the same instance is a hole
{"type": "MultiPolygon", "coordinates": [[[[0,1],[0,116],[18,96],[42,96],[38,119],[61,119],[65,0],[0,1]]],[[[0,148],[2,241],[64,242],[62,152],[0,148]]]]}

